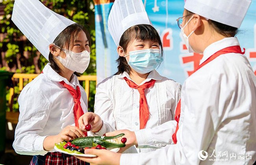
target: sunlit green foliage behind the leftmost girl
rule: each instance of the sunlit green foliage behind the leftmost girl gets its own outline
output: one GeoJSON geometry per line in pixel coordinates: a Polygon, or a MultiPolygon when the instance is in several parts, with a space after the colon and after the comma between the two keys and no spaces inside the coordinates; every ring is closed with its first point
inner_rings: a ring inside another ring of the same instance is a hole
{"type": "MultiPolygon", "coordinates": [[[[91,60],[84,75],[96,75],[95,20],[93,0],[41,0],[54,12],[77,22],[91,35],[91,60]]],[[[40,73],[48,62],[45,57],[24,37],[11,21],[14,0],[3,0],[4,15],[0,15],[0,53],[4,52],[0,61],[0,70],[16,73],[40,73]]],[[[24,82],[25,84],[27,82],[24,82]]],[[[18,84],[17,84],[18,85],[18,84]]],[[[83,85],[83,84],[81,84],[83,85]]],[[[9,94],[7,94],[9,95],[9,94]]],[[[89,109],[93,111],[95,82],[90,84],[89,109]]],[[[8,97],[7,97],[8,98],[8,97]]],[[[13,109],[18,110],[17,99],[13,109]]]]}

